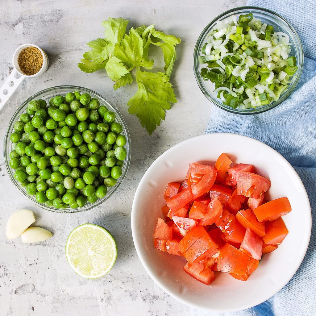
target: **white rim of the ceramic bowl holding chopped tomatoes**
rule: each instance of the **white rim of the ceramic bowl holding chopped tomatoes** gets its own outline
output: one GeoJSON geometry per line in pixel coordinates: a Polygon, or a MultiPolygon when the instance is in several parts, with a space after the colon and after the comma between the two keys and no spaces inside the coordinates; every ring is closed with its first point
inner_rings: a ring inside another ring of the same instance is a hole
{"type": "Polygon", "coordinates": [[[244,135],[239,135],[239,134],[233,134],[233,133],[211,133],[211,134],[204,134],[204,135],[200,135],[200,136],[196,136],[196,137],[192,137],[189,139],[186,139],[176,145],[174,145],[173,147],[167,149],[164,153],[162,153],[159,157],[157,157],[155,159],[155,161],[149,166],[149,168],[146,170],[146,172],[144,173],[142,179],[140,180],[136,192],[135,192],[135,196],[133,199],[133,203],[132,203],[132,209],[131,209],[131,232],[132,232],[132,238],[133,238],[133,242],[134,242],[134,246],[137,252],[137,255],[143,265],[143,267],[145,268],[145,270],[147,271],[147,273],[149,274],[149,276],[155,281],[156,284],[158,284],[159,287],[161,287],[161,289],[163,289],[167,294],[169,294],[170,296],[172,296],[174,299],[180,301],[181,303],[185,304],[185,305],[189,305],[191,307],[200,309],[200,310],[207,310],[207,311],[212,311],[212,312],[218,312],[218,313],[228,313],[228,312],[234,312],[234,311],[238,311],[238,310],[243,310],[246,308],[251,308],[253,306],[256,306],[258,304],[261,304],[262,302],[268,300],[270,297],[272,297],[273,295],[275,295],[279,290],[281,290],[289,281],[290,279],[295,275],[296,271],[299,269],[305,255],[307,252],[307,248],[310,242],[310,237],[311,237],[311,230],[312,230],[312,213],[311,213],[311,207],[310,207],[310,202],[309,202],[309,197],[307,195],[306,189],[304,184],[302,184],[302,194],[305,195],[307,201],[308,201],[308,210],[307,213],[309,214],[309,221],[306,225],[306,227],[304,228],[304,230],[306,231],[306,234],[308,234],[308,238],[305,241],[305,244],[303,245],[302,249],[304,250],[302,252],[302,256],[301,258],[299,258],[298,260],[298,264],[296,265],[295,269],[293,269],[293,272],[291,272],[289,274],[289,276],[287,277],[286,281],[279,284],[274,291],[273,295],[265,295],[263,299],[260,299],[258,302],[256,302],[254,305],[253,304],[248,304],[246,306],[242,306],[240,309],[230,309],[228,307],[225,307],[224,309],[214,309],[214,308],[207,308],[207,307],[201,307],[198,305],[198,303],[193,303],[193,302],[188,302],[185,300],[185,298],[183,298],[182,296],[174,293],[173,291],[169,290],[169,288],[167,286],[165,286],[165,284],[159,279],[159,277],[155,275],[155,272],[152,271],[150,264],[147,263],[147,258],[145,256],[145,254],[143,253],[143,249],[140,245],[140,242],[137,239],[137,234],[138,234],[138,225],[137,225],[137,219],[136,219],[136,213],[138,211],[137,208],[137,200],[142,199],[142,192],[140,190],[140,186],[142,184],[143,181],[145,181],[146,178],[146,173],[151,172],[151,170],[155,169],[156,165],[158,164],[158,161],[160,161],[161,159],[164,158],[164,156],[167,155],[167,153],[171,150],[175,150],[178,147],[182,146],[184,143],[186,142],[190,142],[192,140],[197,140],[197,139],[202,139],[205,138],[207,139],[208,137],[216,137],[216,136],[226,136],[226,137],[235,137],[235,138],[242,138],[244,139],[244,141],[246,142],[247,140],[252,140],[255,143],[259,143],[261,146],[263,146],[266,149],[272,150],[277,156],[279,156],[284,163],[293,171],[293,175],[295,176],[295,178],[299,181],[301,181],[301,178],[299,177],[299,175],[297,174],[297,172],[295,171],[295,169],[293,168],[293,166],[289,163],[289,161],[287,161],[280,153],[278,153],[275,149],[273,149],[272,147],[270,147],[269,145],[260,142],[259,140],[252,138],[252,137],[248,137],[248,136],[244,136],[244,135]]]}

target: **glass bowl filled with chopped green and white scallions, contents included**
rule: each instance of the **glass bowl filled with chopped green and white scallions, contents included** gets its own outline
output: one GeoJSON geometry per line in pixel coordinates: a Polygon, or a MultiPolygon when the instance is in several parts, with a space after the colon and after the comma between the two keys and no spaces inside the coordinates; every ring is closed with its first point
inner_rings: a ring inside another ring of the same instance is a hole
{"type": "Polygon", "coordinates": [[[281,104],[303,69],[303,49],[294,28],[267,9],[240,7],[212,20],[193,55],[197,83],[216,106],[255,114],[281,104]]]}

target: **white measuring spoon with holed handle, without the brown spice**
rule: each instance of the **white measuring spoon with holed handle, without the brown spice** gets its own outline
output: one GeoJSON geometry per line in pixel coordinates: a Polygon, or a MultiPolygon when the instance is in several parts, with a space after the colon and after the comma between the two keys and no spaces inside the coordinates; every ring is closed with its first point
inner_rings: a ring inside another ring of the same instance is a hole
{"type": "Polygon", "coordinates": [[[8,76],[8,78],[6,79],[6,81],[3,83],[3,85],[0,88],[0,110],[7,103],[7,101],[10,99],[11,95],[14,93],[14,91],[19,87],[21,82],[26,77],[39,77],[39,76],[43,75],[43,73],[48,68],[48,57],[47,57],[46,52],[44,52],[40,47],[38,47],[34,44],[24,44],[15,50],[15,52],[13,54],[12,63],[13,63],[13,70],[11,71],[10,75],[8,76]],[[43,55],[42,68],[40,69],[39,72],[37,72],[36,74],[31,75],[31,76],[25,75],[21,71],[21,69],[19,67],[19,63],[18,63],[18,57],[19,57],[21,51],[27,47],[36,47],[37,49],[39,49],[39,51],[43,55]]]}

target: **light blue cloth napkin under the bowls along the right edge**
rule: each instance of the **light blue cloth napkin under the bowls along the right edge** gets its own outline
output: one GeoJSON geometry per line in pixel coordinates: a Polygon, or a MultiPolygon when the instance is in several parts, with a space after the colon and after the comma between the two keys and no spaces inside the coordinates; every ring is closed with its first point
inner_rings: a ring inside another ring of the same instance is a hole
{"type": "Polygon", "coordinates": [[[304,69],[292,95],[258,115],[237,115],[213,106],[205,133],[242,134],[268,144],[283,155],[301,177],[310,199],[313,226],[307,254],[289,283],[269,300],[234,313],[191,310],[194,316],[316,315],[316,2],[314,0],[250,0],[286,18],[304,50],[304,69]]]}

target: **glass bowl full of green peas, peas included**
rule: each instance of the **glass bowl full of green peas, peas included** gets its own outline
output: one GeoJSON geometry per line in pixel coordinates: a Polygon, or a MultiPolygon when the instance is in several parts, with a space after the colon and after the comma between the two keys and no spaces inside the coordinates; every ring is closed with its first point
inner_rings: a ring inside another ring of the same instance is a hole
{"type": "Polygon", "coordinates": [[[42,90],[18,108],[4,140],[9,178],[45,210],[73,213],[106,201],[123,181],[131,139],[120,112],[77,86],[42,90]]]}

